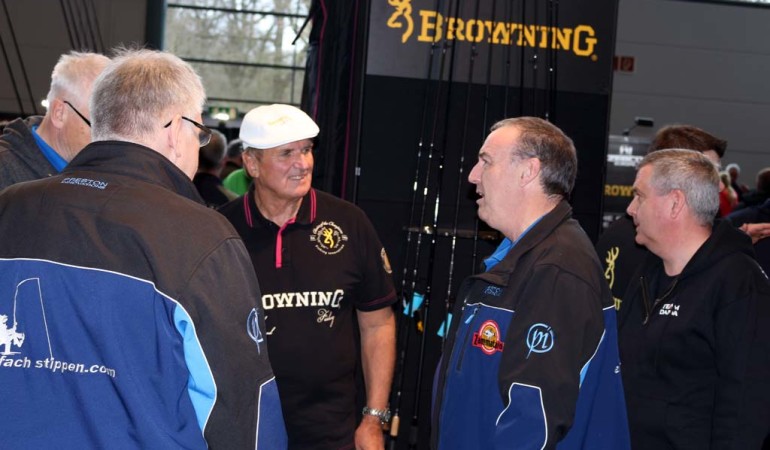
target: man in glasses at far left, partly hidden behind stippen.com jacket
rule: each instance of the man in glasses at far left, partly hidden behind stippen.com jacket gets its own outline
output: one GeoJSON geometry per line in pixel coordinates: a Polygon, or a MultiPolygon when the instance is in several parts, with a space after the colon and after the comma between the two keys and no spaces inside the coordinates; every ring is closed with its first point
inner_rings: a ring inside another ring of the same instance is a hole
{"type": "Polygon", "coordinates": [[[109,62],[96,53],[70,52],[59,58],[45,116],[16,119],[0,136],[0,189],[61,172],[91,141],[88,97],[109,62]]]}

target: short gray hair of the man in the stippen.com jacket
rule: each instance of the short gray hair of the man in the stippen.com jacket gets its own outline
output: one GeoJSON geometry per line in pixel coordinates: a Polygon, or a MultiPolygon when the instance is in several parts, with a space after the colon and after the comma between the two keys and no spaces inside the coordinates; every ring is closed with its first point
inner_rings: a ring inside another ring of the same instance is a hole
{"type": "Polygon", "coordinates": [[[118,52],[94,83],[94,141],[141,141],[174,114],[194,115],[201,111],[206,93],[188,63],[156,50],[118,52]]]}

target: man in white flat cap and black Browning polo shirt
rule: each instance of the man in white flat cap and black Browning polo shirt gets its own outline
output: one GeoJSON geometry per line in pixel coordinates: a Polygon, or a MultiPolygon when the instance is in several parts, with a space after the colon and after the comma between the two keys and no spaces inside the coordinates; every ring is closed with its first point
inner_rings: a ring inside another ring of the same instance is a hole
{"type": "Polygon", "coordinates": [[[318,132],[293,106],[246,114],[240,138],[253,183],[220,212],[243,237],[262,288],[289,448],[383,448],[395,361],[390,264],[363,211],[311,188],[318,132]],[[366,385],[358,427],[356,323],[366,385]]]}

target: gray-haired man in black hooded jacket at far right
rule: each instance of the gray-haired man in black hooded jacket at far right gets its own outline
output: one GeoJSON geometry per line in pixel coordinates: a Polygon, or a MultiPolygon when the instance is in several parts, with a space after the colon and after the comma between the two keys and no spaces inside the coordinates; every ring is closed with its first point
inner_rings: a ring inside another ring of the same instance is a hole
{"type": "Polygon", "coordinates": [[[628,213],[651,254],[619,315],[633,448],[760,448],[770,431],[770,283],[718,208],[704,155],[642,160],[628,213]]]}

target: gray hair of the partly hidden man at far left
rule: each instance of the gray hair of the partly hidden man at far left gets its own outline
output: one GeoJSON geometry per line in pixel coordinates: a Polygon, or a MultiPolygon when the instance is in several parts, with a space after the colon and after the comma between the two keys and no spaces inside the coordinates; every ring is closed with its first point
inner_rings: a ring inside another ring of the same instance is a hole
{"type": "Polygon", "coordinates": [[[96,77],[110,63],[110,58],[99,53],[69,52],[61,55],[51,72],[48,103],[54,99],[88,100],[89,89],[96,77]]]}

